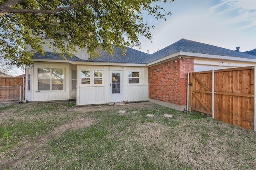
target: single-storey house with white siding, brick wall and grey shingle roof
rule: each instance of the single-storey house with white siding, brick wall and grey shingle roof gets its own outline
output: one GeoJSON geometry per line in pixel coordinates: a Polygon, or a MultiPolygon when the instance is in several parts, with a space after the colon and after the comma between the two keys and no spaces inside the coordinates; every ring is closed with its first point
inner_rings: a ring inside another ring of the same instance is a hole
{"type": "Polygon", "coordinates": [[[90,59],[82,50],[62,59],[46,49],[34,53],[26,68],[26,100],[76,99],[77,105],[150,101],[177,110],[186,109],[187,73],[256,65],[256,56],[180,39],[147,54],[126,47],[126,55],[115,47],[90,59]]]}

